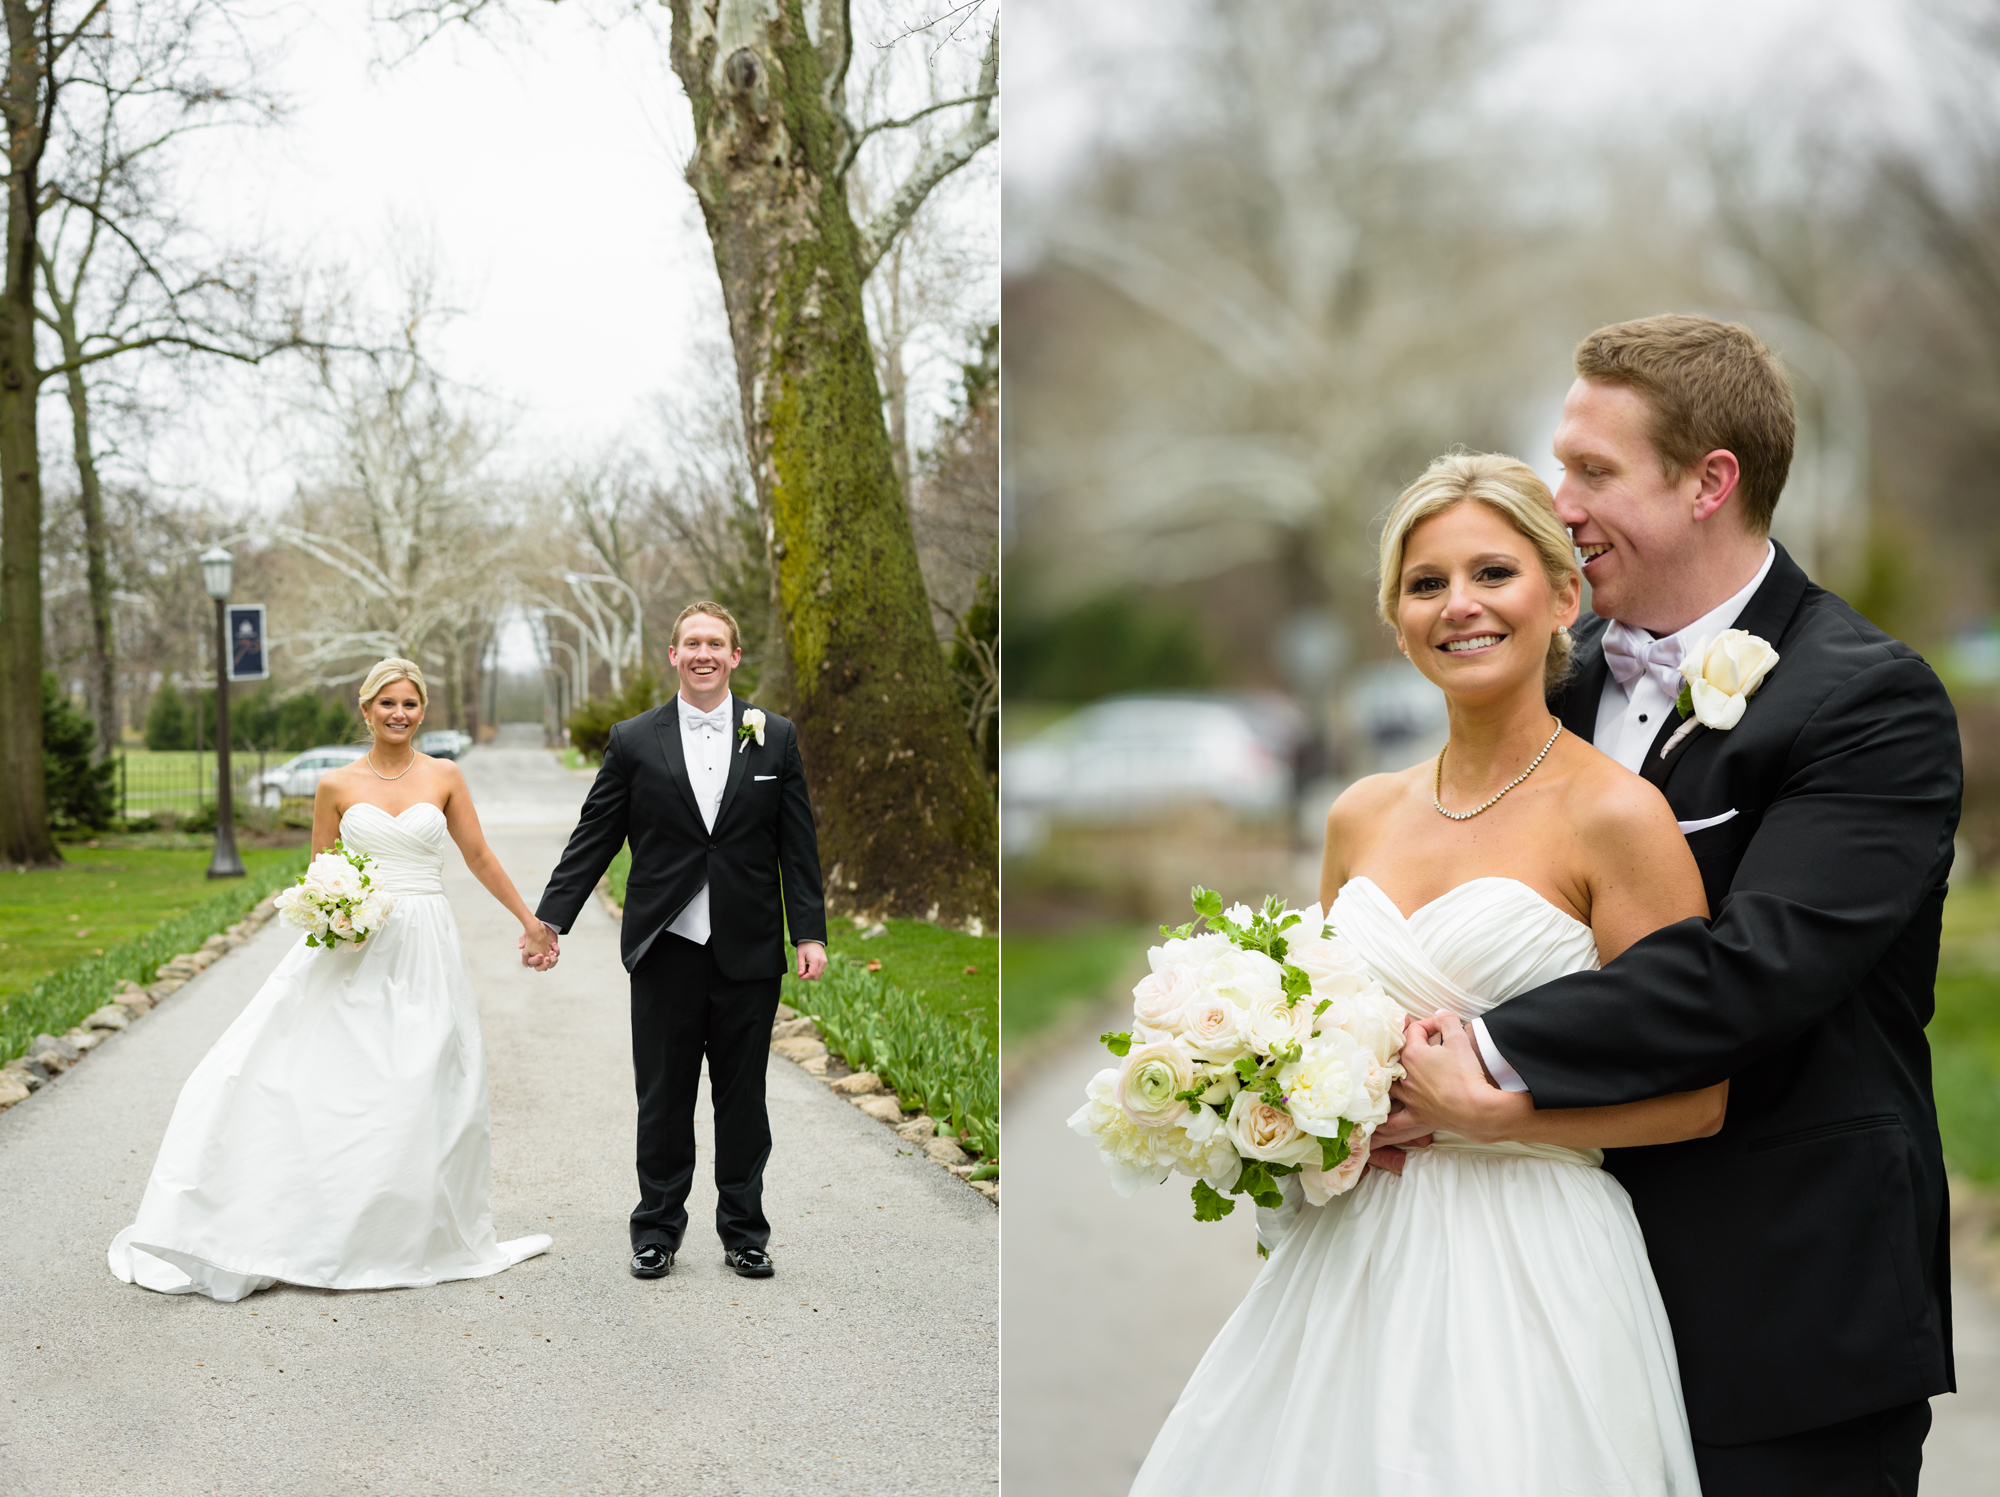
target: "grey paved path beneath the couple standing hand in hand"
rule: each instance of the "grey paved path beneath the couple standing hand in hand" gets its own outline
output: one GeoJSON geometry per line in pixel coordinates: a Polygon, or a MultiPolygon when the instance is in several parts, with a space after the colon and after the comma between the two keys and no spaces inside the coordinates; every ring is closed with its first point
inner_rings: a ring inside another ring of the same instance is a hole
{"type": "MultiPolygon", "coordinates": [[[[464,761],[532,905],[582,801],[538,748],[464,761]]],[[[492,1081],[492,1279],[238,1305],[112,1279],[182,1081],[296,939],[280,923],[0,1113],[0,1493],[982,1493],[996,1483],[996,1213],[770,1065],[778,1277],[738,1279],[696,1179],[668,1279],[626,1273],[632,1069],[618,931],[562,965],[446,855],[492,1081]],[[232,1429],[234,1425],[234,1429],[232,1429]]],[[[712,1159],[706,1087],[698,1113],[712,1159]]]]}

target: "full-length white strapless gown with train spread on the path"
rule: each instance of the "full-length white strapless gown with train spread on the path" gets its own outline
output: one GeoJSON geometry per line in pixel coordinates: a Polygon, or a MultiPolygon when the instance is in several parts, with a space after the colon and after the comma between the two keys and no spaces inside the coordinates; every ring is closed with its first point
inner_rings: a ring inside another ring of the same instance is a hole
{"type": "Polygon", "coordinates": [[[444,813],[358,805],[342,843],[396,909],[362,947],[304,937],[188,1077],[126,1283],[242,1299],[274,1283],[406,1289],[500,1273],[546,1235],[494,1241],[486,1051],[444,899],[444,813]]]}

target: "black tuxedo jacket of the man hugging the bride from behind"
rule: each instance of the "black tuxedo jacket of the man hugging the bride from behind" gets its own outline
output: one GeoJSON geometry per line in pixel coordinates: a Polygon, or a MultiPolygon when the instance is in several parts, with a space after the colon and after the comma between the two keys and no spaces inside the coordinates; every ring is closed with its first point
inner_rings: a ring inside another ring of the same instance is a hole
{"type": "MultiPolygon", "coordinates": [[[[1552,698],[1596,726],[1602,620],[1552,698]]],[[[1944,1159],[1930,1097],[1958,718],[1906,644],[1780,548],[1738,628],[1778,664],[1742,720],[1668,712],[1644,775],[1688,835],[1708,921],[1486,1015],[1536,1107],[1730,1081],[1712,1139],[1618,1149],[1646,1231],[1694,1435],[1742,1445],[1952,1387],[1944,1159]]]]}

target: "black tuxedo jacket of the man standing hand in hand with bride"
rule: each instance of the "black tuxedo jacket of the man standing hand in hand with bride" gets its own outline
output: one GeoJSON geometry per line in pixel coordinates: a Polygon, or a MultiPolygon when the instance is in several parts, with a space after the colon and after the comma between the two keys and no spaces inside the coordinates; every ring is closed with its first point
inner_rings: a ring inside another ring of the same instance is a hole
{"type": "Polygon", "coordinates": [[[732,981],[782,977],[786,925],[792,945],[826,943],[820,845],[812,831],[798,730],[764,714],[764,742],[742,738],[744,702],[730,696],[730,773],[716,829],[702,825],[680,744],[678,698],[612,728],[604,767],[548,877],[536,915],[558,931],[598,887],[604,869],[632,843],[626,879],[626,971],[708,885],[710,949],[732,981]]]}

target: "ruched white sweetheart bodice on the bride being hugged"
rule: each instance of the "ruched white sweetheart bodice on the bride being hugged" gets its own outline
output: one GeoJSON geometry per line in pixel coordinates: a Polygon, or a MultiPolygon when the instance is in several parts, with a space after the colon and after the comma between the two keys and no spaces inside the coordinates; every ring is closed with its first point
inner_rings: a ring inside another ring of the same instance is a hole
{"type": "MultiPolygon", "coordinates": [[[[1404,917],[1372,879],[1348,879],[1328,917],[1382,989],[1408,1013],[1446,1009],[1478,1019],[1488,1009],[1598,965],[1590,927],[1550,905],[1520,879],[1470,879],[1404,917]]],[[[1602,1165],[1602,1149],[1552,1143],[1474,1143],[1438,1133],[1438,1149],[1524,1155],[1602,1165]]]]}

